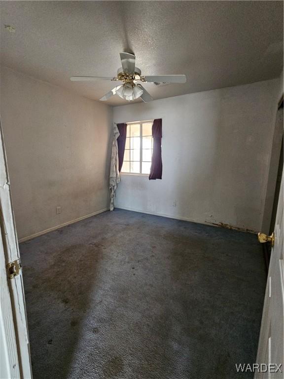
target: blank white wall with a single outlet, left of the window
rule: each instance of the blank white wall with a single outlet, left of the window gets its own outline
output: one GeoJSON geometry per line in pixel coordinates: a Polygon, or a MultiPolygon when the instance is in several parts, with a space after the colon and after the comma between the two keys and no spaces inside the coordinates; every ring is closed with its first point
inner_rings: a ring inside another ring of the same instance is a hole
{"type": "Polygon", "coordinates": [[[2,68],[0,112],[19,238],[108,207],[111,107],[2,68]]]}

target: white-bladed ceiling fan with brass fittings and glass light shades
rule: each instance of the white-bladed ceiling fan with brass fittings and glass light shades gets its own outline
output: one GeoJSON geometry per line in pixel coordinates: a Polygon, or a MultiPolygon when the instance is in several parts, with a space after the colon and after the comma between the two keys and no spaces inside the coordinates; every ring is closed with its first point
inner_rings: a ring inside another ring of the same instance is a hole
{"type": "Polygon", "coordinates": [[[118,85],[111,91],[107,92],[100,100],[105,101],[113,95],[118,95],[127,101],[133,101],[139,97],[144,103],[153,100],[151,95],[145,90],[138,81],[146,82],[166,82],[166,83],[185,83],[185,75],[155,75],[142,76],[141,70],[135,67],[135,55],[131,53],[120,53],[122,67],[117,70],[117,77],[111,76],[72,76],[72,81],[96,81],[96,80],[112,80],[122,81],[123,84],[118,85]]]}

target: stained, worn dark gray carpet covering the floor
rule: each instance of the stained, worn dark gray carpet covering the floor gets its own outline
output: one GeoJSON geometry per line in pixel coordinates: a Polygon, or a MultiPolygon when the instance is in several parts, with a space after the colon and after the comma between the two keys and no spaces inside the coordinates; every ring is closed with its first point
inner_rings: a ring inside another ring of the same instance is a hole
{"type": "Polygon", "coordinates": [[[117,209],[20,250],[35,379],[252,378],[255,235],[117,209]]]}

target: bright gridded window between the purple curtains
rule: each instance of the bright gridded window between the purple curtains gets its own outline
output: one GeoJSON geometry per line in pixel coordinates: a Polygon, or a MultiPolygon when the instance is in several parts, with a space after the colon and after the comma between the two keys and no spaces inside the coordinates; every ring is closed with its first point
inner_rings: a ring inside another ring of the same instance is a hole
{"type": "Polygon", "coordinates": [[[150,173],[153,153],[152,124],[152,121],[127,124],[122,173],[150,173]]]}

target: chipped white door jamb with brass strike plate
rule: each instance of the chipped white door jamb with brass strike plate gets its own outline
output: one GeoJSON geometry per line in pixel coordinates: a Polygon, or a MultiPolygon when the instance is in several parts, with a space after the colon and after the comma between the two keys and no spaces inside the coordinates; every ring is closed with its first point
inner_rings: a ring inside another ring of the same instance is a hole
{"type": "Polygon", "coordinates": [[[0,125],[0,378],[32,378],[25,295],[0,125]]]}

